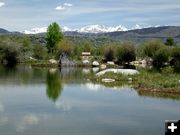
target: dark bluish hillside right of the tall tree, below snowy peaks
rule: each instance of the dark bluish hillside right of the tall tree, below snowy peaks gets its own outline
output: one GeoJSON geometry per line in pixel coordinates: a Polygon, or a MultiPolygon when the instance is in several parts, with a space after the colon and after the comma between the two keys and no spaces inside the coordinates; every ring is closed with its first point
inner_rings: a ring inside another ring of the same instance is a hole
{"type": "Polygon", "coordinates": [[[78,32],[66,32],[66,36],[70,37],[87,37],[91,39],[111,39],[114,41],[134,41],[143,42],[150,39],[166,40],[167,37],[173,37],[176,43],[180,43],[180,27],[179,26],[164,26],[164,27],[152,27],[138,30],[110,32],[110,33],[78,33],[78,32]]]}

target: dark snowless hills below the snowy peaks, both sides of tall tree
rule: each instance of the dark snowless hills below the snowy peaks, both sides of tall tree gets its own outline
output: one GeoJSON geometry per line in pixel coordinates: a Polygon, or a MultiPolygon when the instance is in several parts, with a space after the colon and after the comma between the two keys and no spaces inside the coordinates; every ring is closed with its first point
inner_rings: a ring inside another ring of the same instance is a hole
{"type": "MultiPolygon", "coordinates": [[[[0,35],[22,36],[19,32],[9,32],[0,29],[0,35]]],[[[79,33],[64,32],[64,35],[75,43],[83,40],[90,40],[95,45],[103,45],[109,42],[133,41],[140,43],[150,39],[166,40],[167,37],[174,38],[175,42],[180,44],[180,26],[151,27],[129,31],[109,32],[109,33],[79,33]]],[[[45,33],[28,35],[34,43],[45,44],[45,33]]]]}

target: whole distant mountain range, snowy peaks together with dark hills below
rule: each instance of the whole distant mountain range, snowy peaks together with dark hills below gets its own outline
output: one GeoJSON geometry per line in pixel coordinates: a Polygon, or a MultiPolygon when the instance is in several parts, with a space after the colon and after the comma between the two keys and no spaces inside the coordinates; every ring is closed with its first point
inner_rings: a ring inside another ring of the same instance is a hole
{"type": "MultiPolygon", "coordinates": [[[[29,36],[36,36],[39,38],[44,37],[44,32],[46,32],[47,28],[42,29],[34,29],[33,33],[29,33],[29,36]]],[[[69,28],[65,28],[64,34],[69,38],[89,38],[90,40],[111,40],[111,41],[134,41],[134,42],[143,42],[149,39],[161,39],[163,41],[168,37],[174,38],[176,43],[180,44],[180,26],[161,26],[161,27],[148,27],[141,28],[136,26],[136,28],[132,28],[130,30],[126,29],[122,26],[117,27],[104,27],[99,25],[86,26],[79,30],[71,30],[69,28]],[[93,30],[93,32],[92,32],[93,30]]],[[[24,32],[25,33],[25,32],[24,32]]],[[[5,29],[0,28],[0,34],[13,34],[13,35],[22,35],[24,33],[19,32],[9,32],[5,29]]],[[[27,33],[26,33],[27,34],[27,33]]]]}

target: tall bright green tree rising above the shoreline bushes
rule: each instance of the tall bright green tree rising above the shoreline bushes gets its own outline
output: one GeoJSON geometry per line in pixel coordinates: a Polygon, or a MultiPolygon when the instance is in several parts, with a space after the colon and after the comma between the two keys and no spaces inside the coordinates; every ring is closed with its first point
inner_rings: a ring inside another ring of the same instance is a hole
{"type": "Polygon", "coordinates": [[[57,44],[62,39],[63,39],[63,33],[59,25],[56,22],[50,24],[46,34],[48,52],[53,54],[57,47],[57,44]]]}

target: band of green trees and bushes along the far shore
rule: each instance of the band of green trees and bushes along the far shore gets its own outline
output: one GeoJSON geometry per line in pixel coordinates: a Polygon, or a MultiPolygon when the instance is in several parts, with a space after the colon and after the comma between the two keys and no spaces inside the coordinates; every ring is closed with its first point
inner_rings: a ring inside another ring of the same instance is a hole
{"type": "Polygon", "coordinates": [[[82,52],[91,52],[93,59],[99,62],[114,61],[117,64],[125,64],[137,59],[151,59],[153,65],[159,67],[165,64],[180,64],[180,46],[170,37],[166,42],[149,40],[139,45],[130,41],[94,45],[88,39],[82,39],[75,44],[63,35],[60,26],[55,22],[48,27],[46,44],[33,44],[28,35],[18,38],[0,37],[0,62],[4,64],[28,62],[33,59],[58,60],[62,53],[69,59],[80,61],[82,52]]]}

